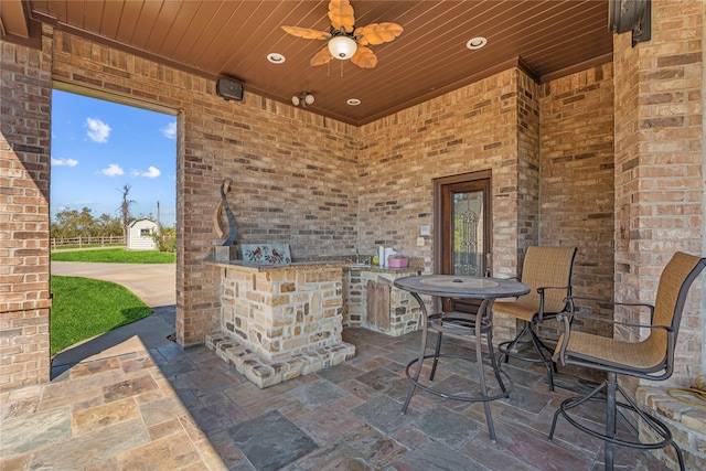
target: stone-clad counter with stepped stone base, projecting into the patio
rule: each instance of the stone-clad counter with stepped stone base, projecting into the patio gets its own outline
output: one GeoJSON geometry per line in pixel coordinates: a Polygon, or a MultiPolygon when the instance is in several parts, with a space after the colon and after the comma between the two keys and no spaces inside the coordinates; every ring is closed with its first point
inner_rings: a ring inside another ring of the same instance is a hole
{"type": "Polygon", "coordinates": [[[221,270],[221,331],[206,346],[260,388],[355,356],[342,341],[343,266],[214,261],[221,270]]]}

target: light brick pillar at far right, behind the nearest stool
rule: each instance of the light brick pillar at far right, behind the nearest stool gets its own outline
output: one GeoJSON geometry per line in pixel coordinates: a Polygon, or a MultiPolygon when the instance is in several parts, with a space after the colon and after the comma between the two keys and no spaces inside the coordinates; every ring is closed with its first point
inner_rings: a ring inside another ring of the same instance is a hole
{"type": "MultiPolygon", "coordinates": [[[[652,40],[632,47],[621,34],[613,43],[618,301],[654,302],[672,254],[704,250],[705,17],[702,1],[653,1],[652,40]]],[[[682,319],[673,384],[693,385],[706,364],[703,279],[682,319]]],[[[621,329],[616,336],[634,339],[621,329]]]]}

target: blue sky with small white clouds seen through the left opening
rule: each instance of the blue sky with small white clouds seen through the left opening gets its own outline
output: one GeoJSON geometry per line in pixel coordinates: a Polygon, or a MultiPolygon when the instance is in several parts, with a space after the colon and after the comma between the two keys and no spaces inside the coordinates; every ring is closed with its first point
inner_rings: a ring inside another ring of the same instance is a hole
{"type": "Polygon", "coordinates": [[[122,186],[131,186],[135,217],[176,218],[176,117],[53,90],[52,216],[89,207],[119,217],[122,186]]]}

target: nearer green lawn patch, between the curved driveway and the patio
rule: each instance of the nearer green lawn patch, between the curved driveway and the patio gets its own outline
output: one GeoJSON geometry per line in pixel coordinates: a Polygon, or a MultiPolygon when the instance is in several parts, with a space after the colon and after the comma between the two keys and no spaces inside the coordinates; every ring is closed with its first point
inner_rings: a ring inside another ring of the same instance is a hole
{"type": "MultiPolygon", "coordinates": [[[[103,251],[103,250],[101,250],[103,251]]],[[[92,278],[52,276],[51,355],[152,313],[127,288],[92,278]]]]}

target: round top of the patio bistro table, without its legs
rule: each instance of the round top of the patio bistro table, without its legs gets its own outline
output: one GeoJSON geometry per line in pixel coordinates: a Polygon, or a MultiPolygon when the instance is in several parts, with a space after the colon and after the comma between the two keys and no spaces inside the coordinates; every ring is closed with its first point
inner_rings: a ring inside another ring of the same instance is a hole
{"type": "Polygon", "coordinates": [[[462,275],[421,275],[395,280],[406,291],[443,298],[510,298],[530,292],[530,287],[517,280],[471,277],[462,275]]]}

